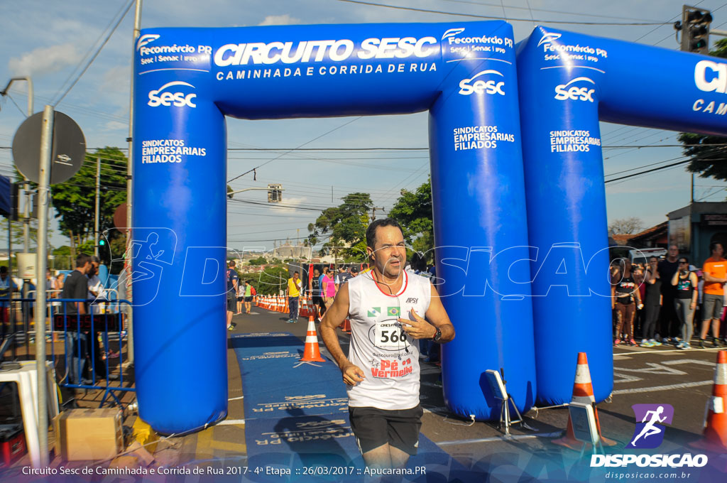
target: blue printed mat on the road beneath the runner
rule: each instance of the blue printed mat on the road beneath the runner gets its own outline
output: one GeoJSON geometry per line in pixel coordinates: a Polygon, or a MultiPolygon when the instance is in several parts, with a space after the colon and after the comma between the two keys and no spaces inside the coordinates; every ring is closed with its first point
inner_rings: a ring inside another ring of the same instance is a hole
{"type": "MultiPolygon", "coordinates": [[[[240,364],[245,398],[245,479],[363,481],[365,465],[336,364],[325,357],[326,362],[301,364],[303,343],[289,333],[235,335],[230,347],[240,364]]],[[[407,468],[411,474],[403,481],[481,481],[422,434],[407,468]]]]}

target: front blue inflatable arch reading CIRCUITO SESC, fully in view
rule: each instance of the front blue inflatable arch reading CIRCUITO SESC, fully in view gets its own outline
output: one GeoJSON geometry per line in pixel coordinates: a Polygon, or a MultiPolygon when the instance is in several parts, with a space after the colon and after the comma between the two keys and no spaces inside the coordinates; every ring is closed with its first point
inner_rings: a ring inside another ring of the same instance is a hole
{"type": "Polygon", "coordinates": [[[457,325],[443,348],[446,403],[491,418],[482,373],[505,367],[520,409],[534,404],[529,285],[496,295],[498,273],[530,279],[509,24],[152,28],[134,69],[136,382],[156,431],[227,413],[225,116],[428,110],[438,276],[457,325]]]}

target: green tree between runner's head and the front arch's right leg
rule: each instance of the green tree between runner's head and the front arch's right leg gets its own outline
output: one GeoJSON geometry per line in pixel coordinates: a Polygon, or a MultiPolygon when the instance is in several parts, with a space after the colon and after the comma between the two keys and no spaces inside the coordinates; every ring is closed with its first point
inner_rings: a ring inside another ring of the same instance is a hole
{"type": "Polygon", "coordinates": [[[401,190],[401,196],[389,211],[389,216],[399,222],[404,239],[414,250],[427,255],[432,254],[434,223],[431,179],[415,191],[401,190]]]}

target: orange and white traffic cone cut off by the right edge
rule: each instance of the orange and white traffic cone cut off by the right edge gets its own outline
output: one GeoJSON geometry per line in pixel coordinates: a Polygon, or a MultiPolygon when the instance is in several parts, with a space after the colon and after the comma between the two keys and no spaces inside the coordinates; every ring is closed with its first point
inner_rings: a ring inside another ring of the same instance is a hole
{"type": "Polygon", "coordinates": [[[699,450],[727,452],[727,351],[717,353],[715,385],[712,397],[707,401],[706,418],[702,439],[689,443],[699,450]]]}

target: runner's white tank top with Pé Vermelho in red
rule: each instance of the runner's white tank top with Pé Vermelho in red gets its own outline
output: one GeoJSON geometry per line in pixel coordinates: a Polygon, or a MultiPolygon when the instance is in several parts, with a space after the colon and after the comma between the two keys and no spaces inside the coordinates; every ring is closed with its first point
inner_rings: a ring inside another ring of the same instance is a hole
{"type": "Polygon", "coordinates": [[[406,335],[396,319],[411,319],[411,308],[423,318],[432,289],[422,276],[404,272],[403,277],[394,295],[379,288],[371,271],[348,281],[348,360],[366,375],[347,386],[350,407],[407,410],[419,404],[419,341],[406,335]]]}

